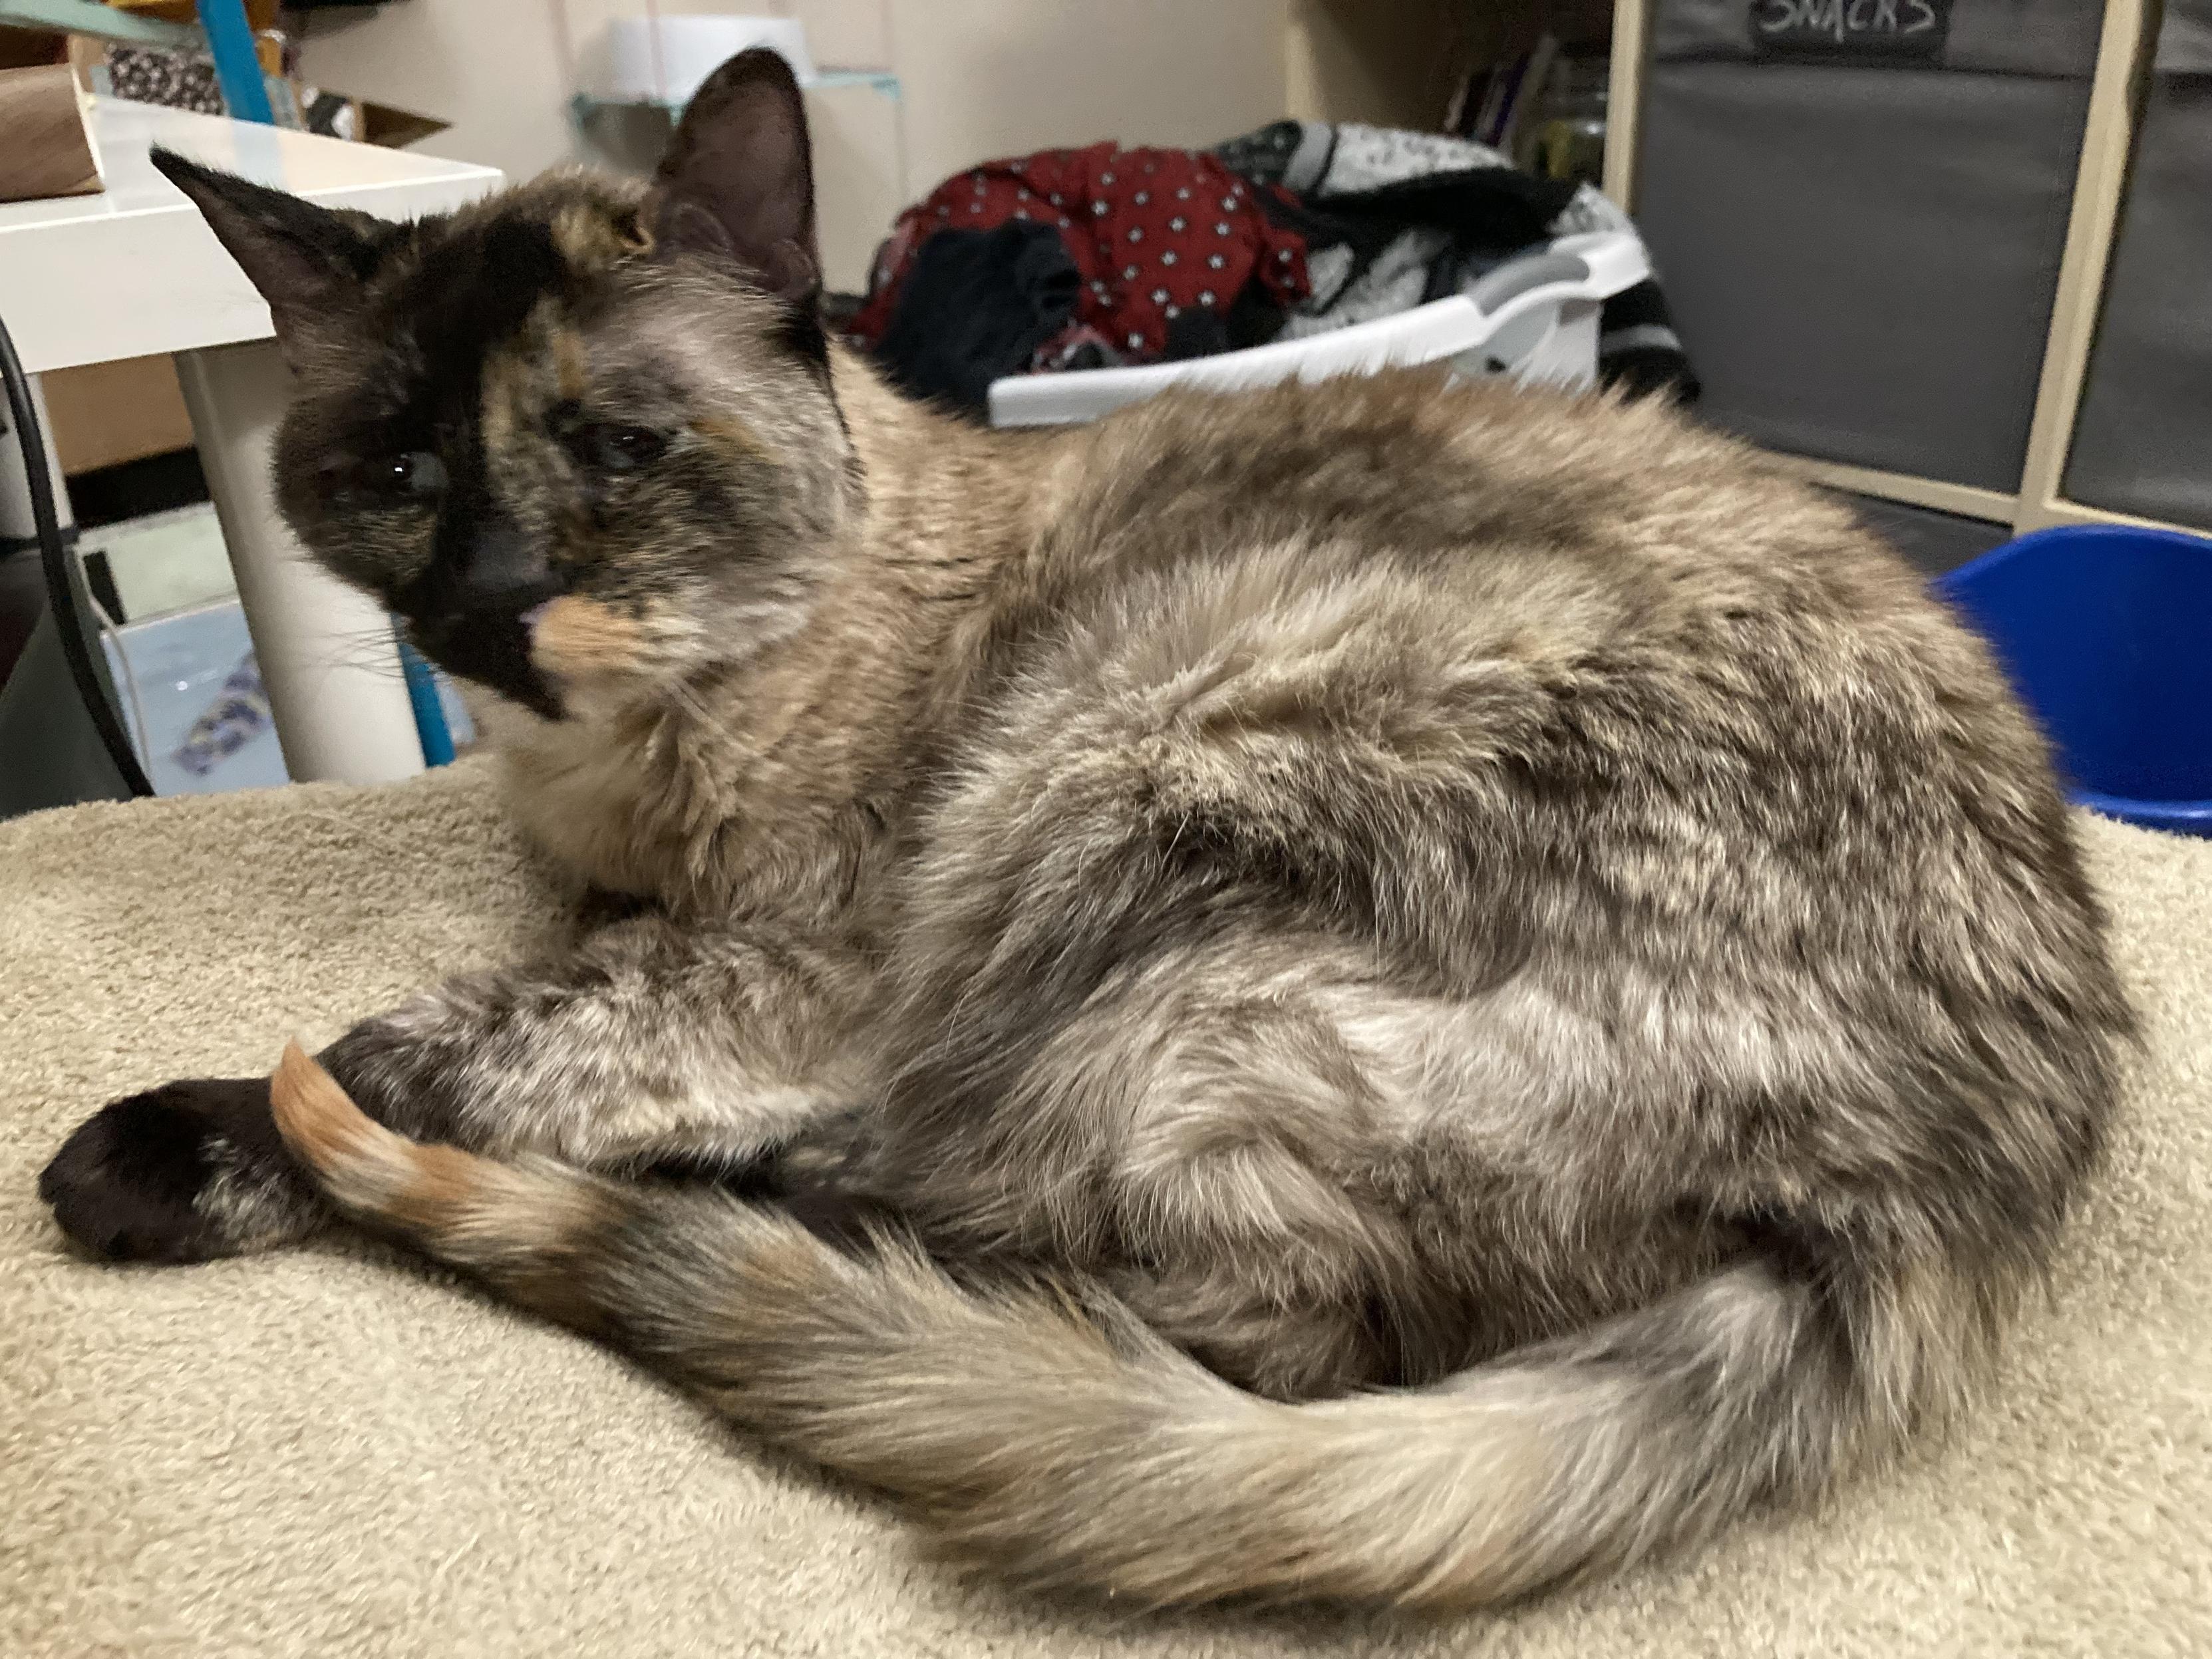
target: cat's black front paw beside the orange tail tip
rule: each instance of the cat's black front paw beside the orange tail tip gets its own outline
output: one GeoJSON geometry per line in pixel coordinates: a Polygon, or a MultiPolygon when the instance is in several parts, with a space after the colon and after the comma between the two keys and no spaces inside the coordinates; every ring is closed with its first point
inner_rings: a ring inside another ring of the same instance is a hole
{"type": "Polygon", "coordinates": [[[126,1095],[77,1126],[38,1177],[77,1245],[111,1261],[208,1261],[307,1232],[319,1206],[270,1119],[265,1077],[126,1095]]]}

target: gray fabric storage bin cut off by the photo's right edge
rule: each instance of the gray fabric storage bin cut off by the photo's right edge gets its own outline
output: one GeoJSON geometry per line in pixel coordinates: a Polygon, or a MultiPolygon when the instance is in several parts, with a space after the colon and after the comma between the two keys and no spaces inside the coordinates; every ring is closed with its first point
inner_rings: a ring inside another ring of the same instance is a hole
{"type": "Polygon", "coordinates": [[[2212,529],[2212,0],[2166,0],[2066,498],[2212,529]]]}

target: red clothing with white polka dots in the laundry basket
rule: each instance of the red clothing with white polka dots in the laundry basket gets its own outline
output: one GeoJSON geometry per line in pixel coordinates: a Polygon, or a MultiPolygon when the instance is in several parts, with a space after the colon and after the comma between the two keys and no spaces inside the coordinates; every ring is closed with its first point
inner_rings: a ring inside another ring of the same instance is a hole
{"type": "Polygon", "coordinates": [[[849,332],[869,345],[883,338],[936,230],[1031,219],[1060,230],[1082,274],[1075,321],[1035,352],[1033,367],[1066,363],[1082,341],[1106,345],[1106,361],[1150,363],[1177,316],[1228,312],[1245,283],[1261,283],[1281,307],[1305,299],[1305,241],[1259,210],[1254,190],[1267,188],[1190,150],[1093,144],[984,161],[898,217],[849,332]]]}

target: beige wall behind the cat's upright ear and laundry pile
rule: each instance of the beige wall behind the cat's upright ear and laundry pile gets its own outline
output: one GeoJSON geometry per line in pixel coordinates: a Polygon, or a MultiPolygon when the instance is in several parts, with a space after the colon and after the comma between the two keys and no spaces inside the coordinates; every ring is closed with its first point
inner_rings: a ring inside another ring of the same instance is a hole
{"type": "MultiPolygon", "coordinates": [[[[664,0],[661,11],[803,18],[823,66],[891,69],[900,100],[865,88],[810,97],[823,263],[860,288],[896,210],[995,155],[1060,144],[1212,144],[1285,108],[1292,0],[664,0]]],[[[657,133],[568,122],[611,18],[641,0],[407,0],[312,13],[310,80],[451,122],[420,150],[529,177],[568,159],[650,164],[657,133]]]]}

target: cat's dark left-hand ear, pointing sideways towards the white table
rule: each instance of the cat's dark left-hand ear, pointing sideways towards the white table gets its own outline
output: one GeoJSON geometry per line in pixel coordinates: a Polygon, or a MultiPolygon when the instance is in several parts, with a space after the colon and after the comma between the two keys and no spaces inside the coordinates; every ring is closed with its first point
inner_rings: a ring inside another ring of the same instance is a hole
{"type": "Polygon", "coordinates": [[[294,367],[345,330],[358,310],[361,285],[376,270],[387,226],[217,173],[175,150],[157,148],[153,164],[192,199],[268,301],[276,343],[294,367]]]}

